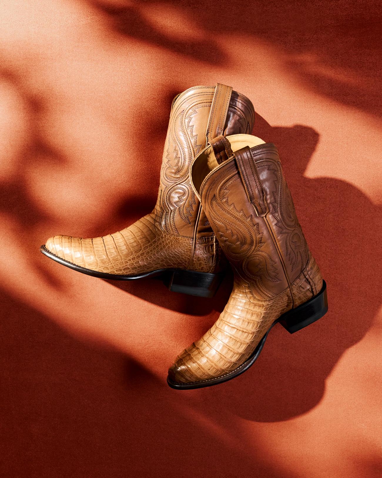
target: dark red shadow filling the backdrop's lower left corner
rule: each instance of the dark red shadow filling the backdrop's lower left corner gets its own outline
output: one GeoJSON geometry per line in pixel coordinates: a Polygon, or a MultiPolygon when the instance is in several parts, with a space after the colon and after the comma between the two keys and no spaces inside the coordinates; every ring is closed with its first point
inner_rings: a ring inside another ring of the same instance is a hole
{"type": "Polygon", "coordinates": [[[276,463],[264,464],[261,443],[246,454],[232,441],[231,415],[216,416],[222,424],[217,429],[214,415],[207,421],[202,416],[207,408],[190,413],[190,396],[123,353],[78,340],[1,291],[0,304],[7,316],[0,343],[9,358],[0,370],[9,391],[3,394],[1,443],[7,477],[198,478],[205,477],[206,463],[216,478],[254,469],[264,478],[285,477],[276,463]],[[219,432],[226,429],[222,439],[219,432]],[[149,450],[147,459],[142,450],[149,450]]]}

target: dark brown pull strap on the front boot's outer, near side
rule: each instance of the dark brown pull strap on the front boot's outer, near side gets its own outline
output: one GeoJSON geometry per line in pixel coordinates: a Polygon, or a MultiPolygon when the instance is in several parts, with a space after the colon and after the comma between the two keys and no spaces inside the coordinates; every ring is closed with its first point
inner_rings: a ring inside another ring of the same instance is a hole
{"type": "Polygon", "coordinates": [[[233,154],[249,201],[254,206],[257,216],[265,216],[268,206],[251,148],[245,146],[233,154]]]}

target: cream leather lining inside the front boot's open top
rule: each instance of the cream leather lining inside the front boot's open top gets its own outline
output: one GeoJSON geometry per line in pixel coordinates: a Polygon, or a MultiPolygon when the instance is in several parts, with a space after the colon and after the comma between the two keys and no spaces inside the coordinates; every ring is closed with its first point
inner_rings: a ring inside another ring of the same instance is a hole
{"type": "MultiPolygon", "coordinates": [[[[265,144],[265,141],[257,138],[257,136],[252,136],[252,134],[233,134],[231,136],[227,136],[227,140],[231,143],[233,152],[238,151],[245,146],[253,148],[259,144],[265,144]]],[[[228,161],[232,160],[233,158],[229,158],[227,161],[219,164],[216,161],[212,146],[207,146],[198,154],[198,156],[196,156],[191,164],[191,185],[199,199],[199,192],[202,182],[206,179],[208,174],[210,174],[214,169],[221,167],[223,164],[226,164],[228,161]]]]}

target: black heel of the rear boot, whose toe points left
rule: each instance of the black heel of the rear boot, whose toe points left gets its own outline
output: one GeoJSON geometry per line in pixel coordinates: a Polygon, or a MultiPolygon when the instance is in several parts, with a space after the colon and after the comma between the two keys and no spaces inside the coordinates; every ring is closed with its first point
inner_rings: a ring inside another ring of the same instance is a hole
{"type": "Polygon", "coordinates": [[[166,285],[172,292],[197,295],[199,297],[213,297],[223,280],[223,273],[210,274],[196,271],[174,271],[166,285]]]}

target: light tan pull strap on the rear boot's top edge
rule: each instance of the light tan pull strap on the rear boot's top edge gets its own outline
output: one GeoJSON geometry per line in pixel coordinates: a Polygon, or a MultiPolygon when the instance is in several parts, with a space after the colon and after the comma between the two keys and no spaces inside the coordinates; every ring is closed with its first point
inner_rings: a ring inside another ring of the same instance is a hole
{"type": "Polygon", "coordinates": [[[231,94],[232,87],[227,87],[221,83],[216,84],[206,130],[207,144],[210,144],[213,138],[216,138],[216,136],[219,136],[224,132],[224,124],[228,113],[231,94]]]}

